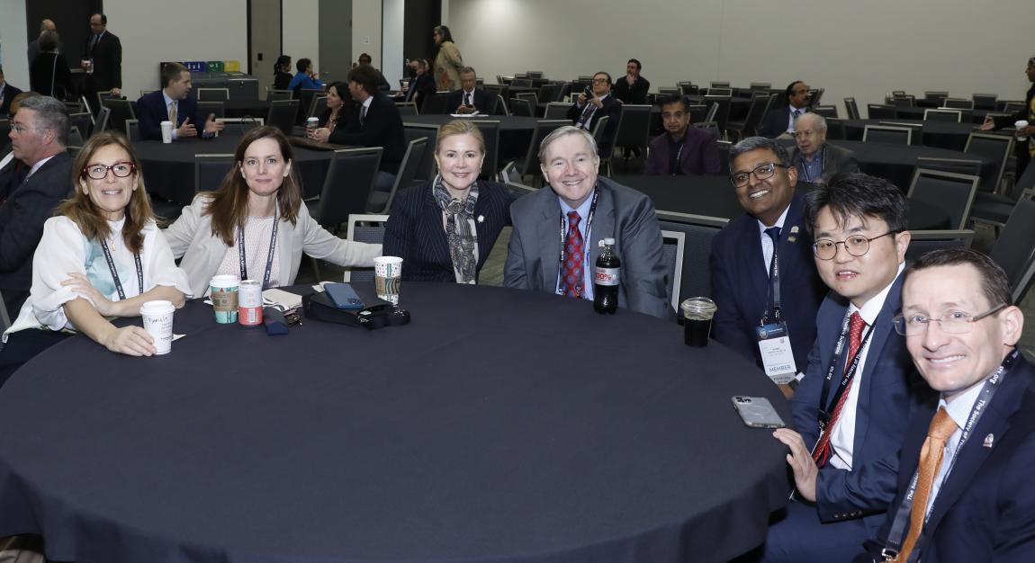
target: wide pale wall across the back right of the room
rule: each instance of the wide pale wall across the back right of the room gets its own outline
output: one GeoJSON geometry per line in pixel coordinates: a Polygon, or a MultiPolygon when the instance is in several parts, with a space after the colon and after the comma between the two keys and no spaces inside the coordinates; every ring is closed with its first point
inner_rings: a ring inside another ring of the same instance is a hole
{"type": "Polygon", "coordinates": [[[1031,0],[443,3],[464,62],[489,82],[530,69],[557,79],[623,75],[638,58],[652,89],[804,80],[826,88],[824,102],[842,115],[844,97],[880,103],[891,90],[1023,99],[1030,11],[1031,0]]]}

